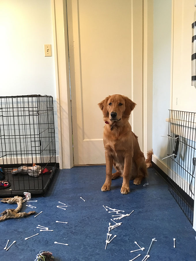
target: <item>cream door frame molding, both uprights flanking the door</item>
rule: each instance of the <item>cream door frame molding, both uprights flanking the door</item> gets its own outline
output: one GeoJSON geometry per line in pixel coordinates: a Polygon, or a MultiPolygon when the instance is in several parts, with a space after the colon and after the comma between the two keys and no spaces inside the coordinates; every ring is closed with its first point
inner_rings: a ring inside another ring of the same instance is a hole
{"type": "MultiPolygon", "coordinates": [[[[51,0],[61,169],[73,167],[66,2],[67,0],[51,0]]],[[[153,0],[143,0],[143,150],[145,157],[147,151],[152,149],[152,79],[153,0]]]]}

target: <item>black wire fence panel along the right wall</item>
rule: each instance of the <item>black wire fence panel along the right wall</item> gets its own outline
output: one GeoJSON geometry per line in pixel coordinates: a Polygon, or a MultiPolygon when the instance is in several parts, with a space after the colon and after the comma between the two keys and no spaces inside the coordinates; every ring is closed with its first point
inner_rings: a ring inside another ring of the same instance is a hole
{"type": "Polygon", "coordinates": [[[193,224],[196,113],[169,110],[168,189],[193,224]]]}

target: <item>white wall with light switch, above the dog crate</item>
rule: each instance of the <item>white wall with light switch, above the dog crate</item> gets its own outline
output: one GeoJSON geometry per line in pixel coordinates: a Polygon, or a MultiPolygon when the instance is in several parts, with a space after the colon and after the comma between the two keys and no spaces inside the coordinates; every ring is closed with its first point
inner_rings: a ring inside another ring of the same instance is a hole
{"type": "Polygon", "coordinates": [[[1,0],[0,50],[0,96],[53,96],[58,135],[51,1],[1,0]],[[52,44],[51,57],[44,44],[52,44]]]}

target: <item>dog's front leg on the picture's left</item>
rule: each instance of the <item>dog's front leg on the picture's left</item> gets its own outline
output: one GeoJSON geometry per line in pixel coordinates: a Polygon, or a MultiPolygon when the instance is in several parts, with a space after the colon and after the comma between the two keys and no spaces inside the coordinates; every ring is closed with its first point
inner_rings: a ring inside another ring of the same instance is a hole
{"type": "Polygon", "coordinates": [[[107,151],[105,151],[105,161],[106,161],[106,178],[105,178],[105,183],[101,188],[101,191],[110,190],[110,186],[112,184],[113,157],[107,151]]]}

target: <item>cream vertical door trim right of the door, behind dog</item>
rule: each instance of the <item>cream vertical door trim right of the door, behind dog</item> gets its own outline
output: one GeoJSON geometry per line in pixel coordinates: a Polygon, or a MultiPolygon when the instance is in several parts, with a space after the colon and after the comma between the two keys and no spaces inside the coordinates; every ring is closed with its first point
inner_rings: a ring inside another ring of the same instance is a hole
{"type": "Polygon", "coordinates": [[[153,0],[143,1],[143,152],[152,149],[153,0]]]}

